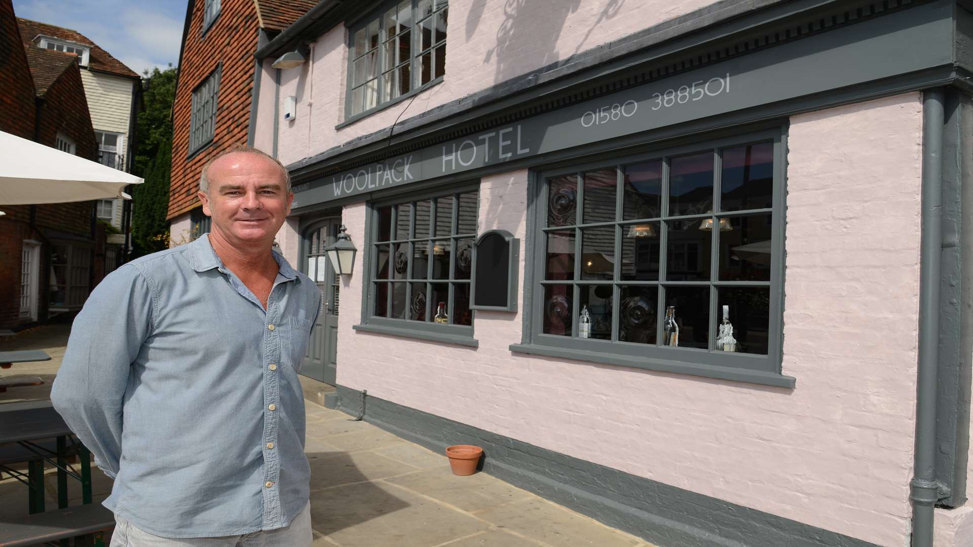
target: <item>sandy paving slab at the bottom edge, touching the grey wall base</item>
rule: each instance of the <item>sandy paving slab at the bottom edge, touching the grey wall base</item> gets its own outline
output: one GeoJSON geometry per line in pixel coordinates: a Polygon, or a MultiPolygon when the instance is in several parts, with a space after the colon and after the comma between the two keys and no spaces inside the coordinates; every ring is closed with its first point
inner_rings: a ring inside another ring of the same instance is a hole
{"type": "Polygon", "coordinates": [[[536,496],[486,509],[477,517],[559,547],[633,547],[642,543],[634,536],[605,528],[536,496]]]}

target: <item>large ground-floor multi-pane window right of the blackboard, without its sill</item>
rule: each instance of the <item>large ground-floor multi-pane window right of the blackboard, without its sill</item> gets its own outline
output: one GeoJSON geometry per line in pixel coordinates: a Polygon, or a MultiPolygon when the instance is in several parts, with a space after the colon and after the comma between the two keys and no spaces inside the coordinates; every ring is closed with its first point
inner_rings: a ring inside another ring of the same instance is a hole
{"type": "Polygon", "coordinates": [[[779,132],[540,177],[527,343],[779,372],[779,132]]]}

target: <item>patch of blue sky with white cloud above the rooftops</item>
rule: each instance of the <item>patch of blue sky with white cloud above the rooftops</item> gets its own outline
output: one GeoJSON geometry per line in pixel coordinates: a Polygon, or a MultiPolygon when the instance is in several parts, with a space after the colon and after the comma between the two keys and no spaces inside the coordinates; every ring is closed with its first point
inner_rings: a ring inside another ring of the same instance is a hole
{"type": "Polygon", "coordinates": [[[187,0],[14,0],[19,18],[73,28],[141,74],[179,62],[187,0]]]}

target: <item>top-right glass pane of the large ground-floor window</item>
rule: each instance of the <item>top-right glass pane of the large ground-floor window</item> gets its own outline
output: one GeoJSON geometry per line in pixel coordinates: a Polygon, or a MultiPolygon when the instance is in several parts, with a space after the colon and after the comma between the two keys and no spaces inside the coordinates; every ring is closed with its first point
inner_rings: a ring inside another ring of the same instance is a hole
{"type": "Polygon", "coordinates": [[[774,205],[774,143],[723,151],[720,209],[763,209],[774,205]]]}

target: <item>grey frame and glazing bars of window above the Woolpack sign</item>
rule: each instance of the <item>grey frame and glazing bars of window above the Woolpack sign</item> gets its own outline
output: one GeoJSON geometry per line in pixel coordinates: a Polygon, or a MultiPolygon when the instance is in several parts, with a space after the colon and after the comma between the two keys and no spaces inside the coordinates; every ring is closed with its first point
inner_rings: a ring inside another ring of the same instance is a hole
{"type": "MultiPolygon", "coordinates": [[[[410,42],[411,42],[411,46],[410,46],[410,50],[409,50],[410,51],[410,59],[408,61],[408,64],[410,65],[409,77],[410,77],[410,79],[412,79],[412,86],[410,87],[410,90],[407,91],[407,92],[405,92],[405,93],[400,94],[399,96],[397,96],[397,97],[395,97],[393,99],[384,99],[384,100],[382,99],[382,95],[383,95],[384,90],[383,90],[383,86],[381,85],[381,81],[382,81],[383,72],[387,72],[387,71],[384,71],[385,53],[384,53],[383,45],[384,45],[384,42],[386,40],[385,40],[385,37],[384,37],[385,28],[384,28],[384,20],[383,20],[383,17],[382,16],[390,8],[392,8],[394,6],[398,6],[399,4],[401,4],[402,3],[402,0],[385,2],[385,3],[382,3],[382,5],[378,9],[370,12],[368,16],[366,16],[364,18],[356,19],[352,24],[348,25],[348,36],[347,36],[348,61],[347,61],[347,74],[346,74],[346,77],[345,77],[345,84],[346,85],[345,85],[345,93],[344,93],[344,122],[342,122],[342,124],[339,124],[337,126],[337,128],[342,128],[344,126],[347,126],[349,124],[352,124],[352,123],[354,123],[354,122],[356,122],[358,120],[361,120],[362,118],[366,118],[366,117],[368,117],[368,116],[370,116],[370,115],[378,112],[379,110],[383,110],[383,109],[388,108],[389,106],[391,106],[393,104],[396,104],[396,103],[401,102],[401,101],[403,101],[403,100],[405,100],[407,98],[410,98],[410,97],[414,96],[416,93],[419,93],[421,91],[428,90],[429,88],[431,88],[431,87],[433,87],[433,86],[435,86],[435,85],[443,82],[443,80],[446,78],[446,70],[444,69],[443,76],[440,76],[438,78],[431,78],[429,82],[426,82],[425,84],[422,84],[421,83],[421,70],[419,70],[419,71],[416,71],[415,70],[415,66],[416,65],[421,66],[421,64],[420,64],[421,63],[421,60],[420,59],[421,59],[421,55],[422,55],[421,52],[418,52],[418,46],[421,45],[421,42],[420,42],[419,33],[416,32],[416,28],[418,28],[419,23],[421,22],[421,21],[417,21],[416,20],[416,15],[417,15],[417,7],[416,6],[417,6],[417,4],[418,4],[418,2],[420,0],[411,0],[411,1],[412,1],[413,17],[412,17],[412,20],[410,22],[411,27],[410,27],[410,30],[409,30],[410,31],[410,42]],[[351,112],[351,107],[352,107],[352,91],[354,91],[354,89],[356,89],[358,87],[358,86],[354,86],[354,84],[355,84],[355,82],[354,82],[354,61],[356,59],[356,56],[360,56],[360,55],[357,54],[357,52],[355,52],[355,49],[354,49],[354,47],[355,47],[355,33],[358,32],[359,30],[363,29],[363,28],[368,27],[371,23],[373,23],[376,20],[378,20],[378,47],[377,47],[378,48],[378,56],[376,58],[376,63],[377,63],[376,72],[378,74],[378,76],[376,77],[376,84],[377,84],[377,88],[378,88],[378,99],[377,99],[376,105],[374,107],[369,108],[369,109],[365,109],[365,110],[362,110],[359,113],[353,114],[351,112]]],[[[445,0],[436,0],[437,3],[438,2],[444,2],[444,1],[445,0]]],[[[436,4],[434,4],[434,5],[436,5],[436,4]]],[[[449,7],[450,7],[449,6],[449,2],[446,1],[446,3],[444,4],[444,7],[437,7],[435,10],[433,10],[429,14],[429,16],[427,16],[427,18],[434,18],[442,10],[444,10],[444,9],[448,10],[449,7]]],[[[425,20],[425,19],[426,18],[422,18],[422,20],[425,20]]],[[[449,29],[447,29],[447,34],[449,35],[449,29]]],[[[432,53],[433,53],[433,51],[437,47],[446,44],[448,41],[449,41],[449,36],[447,37],[446,40],[443,40],[442,42],[434,42],[429,48],[427,48],[425,50],[422,50],[422,52],[428,52],[432,56],[432,62],[433,62],[433,64],[432,64],[432,68],[430,69],[432,75],[435,75],[435,73],[436,73],[436,70],[435,70],[435,62],[436,62],[436,60],[435,60],[435,55],[432,55],[432,53]]],[[[395,68],[392,68],[391,70],[398,70],[399,67],[401,67],[401,66],[403,66],[405,64],[406,63],[397,64],[395,66],[395,68]]]]}

